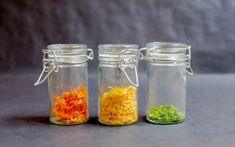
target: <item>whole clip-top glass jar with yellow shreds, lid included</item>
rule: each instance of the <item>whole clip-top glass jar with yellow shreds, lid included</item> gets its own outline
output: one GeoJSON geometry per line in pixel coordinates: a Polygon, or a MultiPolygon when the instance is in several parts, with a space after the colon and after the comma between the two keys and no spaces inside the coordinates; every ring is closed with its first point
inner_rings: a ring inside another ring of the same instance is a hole
{"type": "Polygon", "coordinates": [[[99,121],[105,125],[128,125],[138,119],[138,46],[99,45],[99,121]]]}

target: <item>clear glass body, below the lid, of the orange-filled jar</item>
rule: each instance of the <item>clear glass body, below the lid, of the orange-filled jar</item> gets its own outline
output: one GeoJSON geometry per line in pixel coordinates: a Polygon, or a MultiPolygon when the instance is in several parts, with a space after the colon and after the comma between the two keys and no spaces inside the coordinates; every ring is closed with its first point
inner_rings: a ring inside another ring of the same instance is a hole
{"type": "Polygon", "coordinates": [[[48,77],[50,121],[59,125],[84,123],[88,113],[87,63],[60,66],[48,77]]]}

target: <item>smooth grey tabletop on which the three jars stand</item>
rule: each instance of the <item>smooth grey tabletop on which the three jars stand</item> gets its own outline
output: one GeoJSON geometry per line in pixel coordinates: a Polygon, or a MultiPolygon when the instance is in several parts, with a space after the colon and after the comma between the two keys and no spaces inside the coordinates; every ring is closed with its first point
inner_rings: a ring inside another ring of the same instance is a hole
{"type": "Polygon", "coordinates": [[[234,147],[235,75],[188,78],[187,119],[177,125],[145,122],[145,76],[140,77],[139,121],[108,127],[97,122],[96,80],[90,76],[91,119],[77,126],[48,122],[46,83],[32,87],[35,74],[0,75],[1,147],[234,147]],[[203,83],[203,84],[202,84],[203,83]]]}

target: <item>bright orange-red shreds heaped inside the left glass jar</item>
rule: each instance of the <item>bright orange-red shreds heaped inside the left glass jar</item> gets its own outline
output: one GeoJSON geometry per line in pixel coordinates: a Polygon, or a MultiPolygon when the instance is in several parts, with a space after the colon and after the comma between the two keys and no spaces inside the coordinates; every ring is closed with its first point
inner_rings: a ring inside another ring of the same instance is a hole
{"type": "Polygon", "coordinates": [[[78,124],[88,119],[87,88],[79,86],[63,92],[60,96],[51,95],[51,115],[60,124],[78,124]]]}

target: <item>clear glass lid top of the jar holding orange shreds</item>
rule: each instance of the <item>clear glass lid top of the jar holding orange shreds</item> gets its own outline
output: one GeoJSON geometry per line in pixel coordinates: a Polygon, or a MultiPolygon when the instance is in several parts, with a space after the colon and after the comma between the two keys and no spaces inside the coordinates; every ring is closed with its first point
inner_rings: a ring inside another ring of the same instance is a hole
{"type": "Polygon", "coordinates": [[[78,50],[78,49],[86,49],[87,45],[85,44],[50,44],[47,46],[47,48],[53,51],[78,50]]]}

